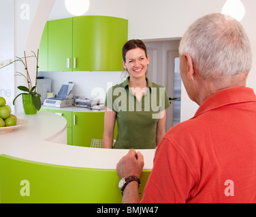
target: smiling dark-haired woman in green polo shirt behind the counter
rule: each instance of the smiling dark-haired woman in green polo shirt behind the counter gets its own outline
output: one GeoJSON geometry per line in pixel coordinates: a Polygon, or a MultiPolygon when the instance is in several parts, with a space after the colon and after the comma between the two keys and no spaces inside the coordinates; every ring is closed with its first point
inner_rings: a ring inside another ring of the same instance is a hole
{"type": "Polygon", "coordinates": [[[170,102],[165,87],[146,78],[149,61],[142,41],[130,40],[123,46],[123,68],[129,77],[108,90],[103,148],[155,149],[165,134],[170,102]],[[118,135],[112,146],[115,122],[118,135]]]}

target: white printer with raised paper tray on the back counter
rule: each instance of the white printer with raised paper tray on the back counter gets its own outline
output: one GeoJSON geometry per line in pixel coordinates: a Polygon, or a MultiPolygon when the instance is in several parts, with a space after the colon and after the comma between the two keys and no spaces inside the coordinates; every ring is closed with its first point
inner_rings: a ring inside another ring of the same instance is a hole
{"type": "Polygon", "coordinates": [[[44,100],[44,106],[57,108],[74,106],[75,100],[73,98],[73,94],[71,94],[73,87],[73,83],[63,84],[56,97],[50,97],[44,100]]]}

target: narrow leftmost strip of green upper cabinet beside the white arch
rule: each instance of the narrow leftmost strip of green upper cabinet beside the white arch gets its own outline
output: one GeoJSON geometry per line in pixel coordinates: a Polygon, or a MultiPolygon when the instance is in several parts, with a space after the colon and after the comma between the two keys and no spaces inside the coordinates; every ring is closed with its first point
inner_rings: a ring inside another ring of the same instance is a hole
{"type": "Polygon", "coordinates": [[[48,22],[44,26],[44,32],[39,45],[38,71],[48,71],[48,22]]]}

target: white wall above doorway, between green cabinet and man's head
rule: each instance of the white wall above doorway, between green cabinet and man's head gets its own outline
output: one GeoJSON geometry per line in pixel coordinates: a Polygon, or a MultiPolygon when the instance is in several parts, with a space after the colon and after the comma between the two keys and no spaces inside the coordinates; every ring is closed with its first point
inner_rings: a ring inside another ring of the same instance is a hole
{"type": "Polygon", "coordinates": [[[127,0],[129,38],[182,37],[197,18],[221,12],[226,0],[127,0]]]}

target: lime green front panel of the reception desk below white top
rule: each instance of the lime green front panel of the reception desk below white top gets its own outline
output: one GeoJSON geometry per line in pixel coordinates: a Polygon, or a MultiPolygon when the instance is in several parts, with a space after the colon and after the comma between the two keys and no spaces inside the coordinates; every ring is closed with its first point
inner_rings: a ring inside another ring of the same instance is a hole
{"type": "MultiPolygon", "coordinates": [[[[150,170],[142,172],[141,197],[149,174],[150,170]]],[[[121,203],[118,182],[116,170],[50,165],[0,155],[1,203],[121,203]]]]}

